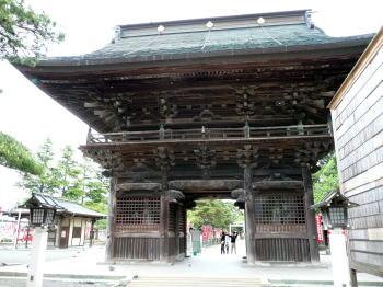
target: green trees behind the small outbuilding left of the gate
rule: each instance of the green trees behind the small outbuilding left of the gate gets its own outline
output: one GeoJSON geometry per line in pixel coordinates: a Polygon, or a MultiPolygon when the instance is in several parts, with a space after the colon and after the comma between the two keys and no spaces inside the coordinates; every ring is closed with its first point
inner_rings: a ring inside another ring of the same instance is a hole
{"type": "Polygon", "coordinates": [[[37,152],[43,168],[39,175],[23,173],[19,186],[31,193],[51,194],[81,203],[90,209],[106,213],[108,182],[101,170],[89,160],[83,163],[74,160],[73,149],[65,147],[57,164],[54,163],[53,142],[47,139],[37,152]]]}

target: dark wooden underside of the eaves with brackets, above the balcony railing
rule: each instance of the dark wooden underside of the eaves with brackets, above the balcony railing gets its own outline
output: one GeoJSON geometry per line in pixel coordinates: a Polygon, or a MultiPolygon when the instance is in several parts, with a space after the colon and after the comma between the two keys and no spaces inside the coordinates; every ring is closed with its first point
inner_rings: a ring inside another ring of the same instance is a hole
{"type": "Polygon", "coordinates": [[[324,124],[326,105],[359,54],[316,59],[92,72],[30,72],[101,133],[324,124]]]}

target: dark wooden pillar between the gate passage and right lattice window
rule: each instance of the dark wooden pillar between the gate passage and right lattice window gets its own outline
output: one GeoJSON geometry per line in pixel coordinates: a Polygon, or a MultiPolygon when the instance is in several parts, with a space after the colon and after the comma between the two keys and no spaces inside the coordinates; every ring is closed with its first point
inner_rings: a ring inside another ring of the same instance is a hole
{"type": "Polygon", "coordinates": [[[245,225],[246,225],[246,257],[248,264],[254,264],[255,255],[255,222],[254,222],[254,193],[252,187],[252,167],[244,168],[244,191],[245,191],[245,225]]]}

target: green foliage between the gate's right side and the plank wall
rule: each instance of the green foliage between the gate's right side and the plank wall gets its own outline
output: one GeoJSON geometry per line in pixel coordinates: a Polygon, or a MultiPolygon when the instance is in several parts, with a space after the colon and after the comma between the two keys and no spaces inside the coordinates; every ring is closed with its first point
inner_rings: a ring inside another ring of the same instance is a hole
{"type": "Polygon", "coordinates": [[[313,174],[314,202],[318,203],[330,191],[339,187],[338,170],[334,152],[320,161],[321,169],[313,174]]]}

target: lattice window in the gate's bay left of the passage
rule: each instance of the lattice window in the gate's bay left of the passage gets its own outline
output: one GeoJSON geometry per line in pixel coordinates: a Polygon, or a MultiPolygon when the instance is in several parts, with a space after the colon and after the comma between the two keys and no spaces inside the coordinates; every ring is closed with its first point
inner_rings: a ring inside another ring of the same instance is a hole
{"type": "Polygon", "coordinates": [[[116,231],[156,230],[160,225],[160,198],[117,197],[116,231]]]}

